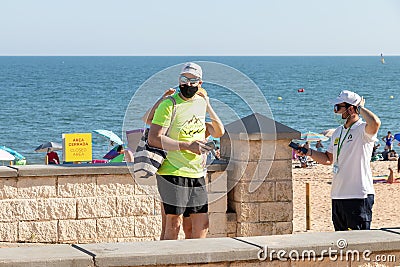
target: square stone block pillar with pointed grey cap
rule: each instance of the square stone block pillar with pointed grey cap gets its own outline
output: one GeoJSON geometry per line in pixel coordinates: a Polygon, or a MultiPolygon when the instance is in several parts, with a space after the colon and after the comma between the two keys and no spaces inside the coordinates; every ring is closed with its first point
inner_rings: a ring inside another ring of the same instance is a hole
{"type": "Polygon", "coordinates": [[[221,157],[228,164],[228,209],[236,236],[293,232],[292,139],[300,132],[255,113],[226,125],[221,157]]]}

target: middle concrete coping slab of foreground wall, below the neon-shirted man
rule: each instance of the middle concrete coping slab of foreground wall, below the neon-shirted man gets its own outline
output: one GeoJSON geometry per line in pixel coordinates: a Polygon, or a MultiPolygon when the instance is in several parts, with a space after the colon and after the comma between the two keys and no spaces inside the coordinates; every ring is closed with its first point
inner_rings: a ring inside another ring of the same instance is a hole
{"type": "Polygon", "coordinates": [[[257,259],[259,249],[232,238],[79,245],[97,266],[211,263],[257,259]]]}

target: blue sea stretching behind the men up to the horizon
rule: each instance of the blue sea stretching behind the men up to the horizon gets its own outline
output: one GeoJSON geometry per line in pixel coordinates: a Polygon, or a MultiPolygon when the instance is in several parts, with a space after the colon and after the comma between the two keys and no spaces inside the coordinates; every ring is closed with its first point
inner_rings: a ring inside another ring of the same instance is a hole
{"type": "Polygon", "coordinates": [[[144,127],[142,115],[176,88],[188,61],[203,67],[203,88],[225,124],[258,112],[319,133],[339,125],[329,100],[352,90],[381,119],[379,139],[400,132],[398,56],[385,64],[380,56],[24,56],[0,57],[0,146],[42,164],[45,154],[34,151],[40,144],[92,133],[93,158],[101,159],[110,143],[93,130],[125,140],[127,130],[144,127]]]}

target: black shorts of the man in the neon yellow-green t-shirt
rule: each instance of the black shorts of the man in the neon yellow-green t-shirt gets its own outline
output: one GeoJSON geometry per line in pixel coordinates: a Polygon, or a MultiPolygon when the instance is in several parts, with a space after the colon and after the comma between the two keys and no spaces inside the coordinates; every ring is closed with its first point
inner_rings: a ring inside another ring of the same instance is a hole
{"type": "Polygon", "coordinates": [[[190,214],[208,212],[208,196],[204,177],[157,175],[157,187],[163,201],[165,214],[183,214],[183,216],[189,217],[190,214]]]}

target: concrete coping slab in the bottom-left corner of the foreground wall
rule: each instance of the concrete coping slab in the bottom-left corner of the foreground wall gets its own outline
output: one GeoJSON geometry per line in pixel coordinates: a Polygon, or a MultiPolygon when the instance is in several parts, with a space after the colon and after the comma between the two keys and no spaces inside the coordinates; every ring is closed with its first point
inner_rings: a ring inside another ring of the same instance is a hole
{"type": "Polygon", "coordinates": [[[93,258],[70,245],[0,249],[0,266],[70,267],[94,266],[93,258]]]}

